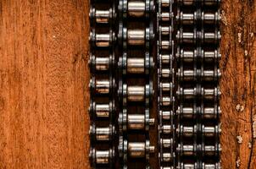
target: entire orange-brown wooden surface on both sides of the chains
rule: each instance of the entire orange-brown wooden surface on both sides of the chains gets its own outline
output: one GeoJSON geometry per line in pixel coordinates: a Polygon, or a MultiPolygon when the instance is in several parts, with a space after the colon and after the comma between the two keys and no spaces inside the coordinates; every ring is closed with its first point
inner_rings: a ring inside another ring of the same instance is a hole
{"type": "MultiPolygon", "coordinates": [[[[222,166],[256,168],[256,4],[223,2],[222,166]]],[[[0,1],[1,169],[88,168],[87,15],[87,0],[0,1]]]]}

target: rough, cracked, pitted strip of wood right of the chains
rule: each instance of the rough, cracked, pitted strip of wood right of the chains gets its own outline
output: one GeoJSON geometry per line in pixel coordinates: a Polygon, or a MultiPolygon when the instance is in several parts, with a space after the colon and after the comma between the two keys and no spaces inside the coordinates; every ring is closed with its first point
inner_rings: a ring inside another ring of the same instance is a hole
{"type": "Polygon", "coordinates": [[[222,5],[220,105],[223,112],[223,168],[256,168],[253,138],[253,117],[254,125],[256,120],[255,5],[249,0],[226,0],[222,5]]]}

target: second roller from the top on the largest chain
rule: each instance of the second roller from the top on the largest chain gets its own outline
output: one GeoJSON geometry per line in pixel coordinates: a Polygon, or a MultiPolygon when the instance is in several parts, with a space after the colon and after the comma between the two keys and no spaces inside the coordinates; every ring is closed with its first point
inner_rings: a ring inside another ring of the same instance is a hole
{"type": "Polygon", "coordinates": [[[145,30],[128,30],[128,44],[129,45],[144,45],[145,30]]]}

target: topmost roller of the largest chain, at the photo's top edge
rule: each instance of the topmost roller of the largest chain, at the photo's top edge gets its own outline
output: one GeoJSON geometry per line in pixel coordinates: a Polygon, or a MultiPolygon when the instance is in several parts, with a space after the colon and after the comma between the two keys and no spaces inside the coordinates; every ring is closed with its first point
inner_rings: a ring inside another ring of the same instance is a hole
{"type": "Polygon", "coordinates": [[[145,14],[145,6],[141,1],[128,2],[128,14],[133,17],[142,17],[145,14]]]}

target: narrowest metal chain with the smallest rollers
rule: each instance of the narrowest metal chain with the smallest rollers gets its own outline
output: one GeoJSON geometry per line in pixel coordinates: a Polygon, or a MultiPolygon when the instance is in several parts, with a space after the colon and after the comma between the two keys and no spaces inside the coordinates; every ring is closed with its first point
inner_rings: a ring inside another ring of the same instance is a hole
{"type": "Polygon", "coordinates": [[[175,166],[173,0],[158,1],[159,167],[175,166]]]}

